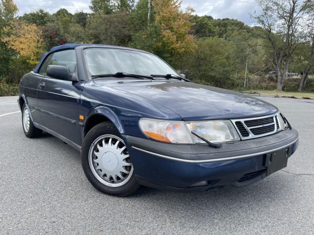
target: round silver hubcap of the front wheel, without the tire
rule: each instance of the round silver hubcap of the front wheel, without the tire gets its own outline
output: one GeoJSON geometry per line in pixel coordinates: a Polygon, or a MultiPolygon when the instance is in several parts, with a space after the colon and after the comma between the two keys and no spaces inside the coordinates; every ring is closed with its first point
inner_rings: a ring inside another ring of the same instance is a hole
{"type": "Polygon", "coordinates": [[[130,155],[123,140],[112,135],[97,138],[89,149],[89,166],[104,185],[120,187],[133,173],[130,155]]]}

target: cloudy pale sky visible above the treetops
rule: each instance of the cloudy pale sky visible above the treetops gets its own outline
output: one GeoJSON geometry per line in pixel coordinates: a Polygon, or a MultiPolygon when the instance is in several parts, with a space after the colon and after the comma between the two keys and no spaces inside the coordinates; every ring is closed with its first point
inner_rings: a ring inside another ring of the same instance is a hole
{"type": "MultiPolygon", "coordinates": [[[[40,8],[56,12],[59,8],[66,8],[69,12],[90,12],[90,0],[14,0],[19,8],[19,15],[36,11],[40,8]]],[[[188,5],[195,9],[197,15],[210,15],[213,18],[232,18],[252,25],[250,13],[260,12],[254,0],[183,0],[183,9],[188,5]]]]}

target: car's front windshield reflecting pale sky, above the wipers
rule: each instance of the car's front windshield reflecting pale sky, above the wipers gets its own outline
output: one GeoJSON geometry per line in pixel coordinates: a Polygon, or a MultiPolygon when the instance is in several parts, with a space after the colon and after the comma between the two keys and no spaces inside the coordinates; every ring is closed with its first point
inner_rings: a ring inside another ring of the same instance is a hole
{"type": "Polygon", "coordinates": [[[176,74],[167,63],[155,55],[127,49],[87,48],[84,50],[91,75],[125,72],[139,75],[176,74]]]}

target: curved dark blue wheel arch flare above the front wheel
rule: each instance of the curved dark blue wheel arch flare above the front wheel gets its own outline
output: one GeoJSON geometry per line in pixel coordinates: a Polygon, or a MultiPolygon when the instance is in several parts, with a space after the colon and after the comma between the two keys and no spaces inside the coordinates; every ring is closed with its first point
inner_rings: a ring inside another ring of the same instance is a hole
{"type": "Polygon", "coordinates": [[[117,129],[119,130],[121,134],[125,133],[125,129],[121,123],[121,120],[109,107],[106,107],[103,105],[99,105],[95,107],[88,113],[88,116],[87,116],[88,118],[86,118],[85,123],[87,123],[88,120],[92,118],[94,115],[103,115],[105,118],[108,118],[117,127],[117,129]]]}

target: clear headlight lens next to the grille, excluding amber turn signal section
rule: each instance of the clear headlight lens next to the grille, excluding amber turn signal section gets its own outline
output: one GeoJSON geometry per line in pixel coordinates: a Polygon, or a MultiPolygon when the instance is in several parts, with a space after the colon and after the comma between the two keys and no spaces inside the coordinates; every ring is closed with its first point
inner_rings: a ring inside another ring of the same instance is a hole
{"type": "MultiPolygon", "coordinates": [[[[240,140],[235,127],[228,120],[189,122],[187,126],[191,132],[212,143],[240,140]]],[[[204,143],[204,141],[194,135],[193,141],[195,143],[204,143]]]]}

